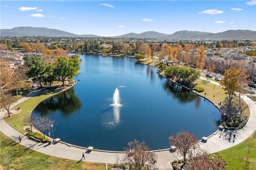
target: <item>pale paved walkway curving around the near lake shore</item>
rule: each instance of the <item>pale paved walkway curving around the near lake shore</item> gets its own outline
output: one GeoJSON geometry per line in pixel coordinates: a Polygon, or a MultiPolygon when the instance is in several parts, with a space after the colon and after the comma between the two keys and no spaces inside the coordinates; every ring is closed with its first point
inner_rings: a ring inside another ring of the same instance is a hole
{"type": "MultiPolygon", "coordinates": [[[[37,91],[31,92],[28,96],[18,100],[15,105],[33,97],[37,91]]],[[[241,130],[232,131],[232,133],[236,133],[236,140],[233,142],[229,141],[228,134],[229,131],[220,134],[220,131],[217,134],[212,135],[207,142],[199,142],[199,145],[202,148],[205,148],[210,153],[217,152],[223,149],[230,148],[238,143],[244,141],[256,130],[256,104],[247,96],[243,96],[244,101],[250,107],[250,118],[245,125],[245,127],[241,130]]],[[[14,130],[11,126],[9,126],[3,119],[3,114],[1,114],[0,120],[0,130],[7,135],[7,137],[11,138],[14,141],[17,141],[19,135],[22,136],[21,133],[14,130]]],[[[203,121],[203,120],[202,120],[203,121]]],[[[198,126],[199,127],[199,126],[198,126]]],[[[82,152],[86,152],[84,161],[87,162],[97,162],[97,163],[116,163],[117,158],[122,160],[124,154],[123,153],[113,153],[113,152],[101,152],[101,151],[91,151],[88,152],[86,149],[77,148],[67,146],[64,143],[54,143],[52,145],[47,145],[43,143],[37,143],[28,139],[27,137],[22,137],[21,145],[28,147],[32,150],[42,152],[47,155],[52,155],[56,157],[66,158],[66,159],[74,159],[80,160],[82,157],[82,152]]],[[[169,150],[167,151],[159,151],[155,152],[158,156],[157,163],[159,169],[171,169],[169,166],[169,162],[180,157],[176,153],[172,153],[169,150]]]]}

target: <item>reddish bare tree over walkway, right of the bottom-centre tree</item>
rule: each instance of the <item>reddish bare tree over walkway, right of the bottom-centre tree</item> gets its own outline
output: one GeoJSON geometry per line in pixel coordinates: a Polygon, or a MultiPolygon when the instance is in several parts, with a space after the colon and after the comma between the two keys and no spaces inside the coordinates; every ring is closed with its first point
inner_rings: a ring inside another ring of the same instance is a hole
{"type": "Polygon", "coordinates": [[[169,137],[172,146],[177,147],[178,152],[183,156],[183,164],[186,164],[186,156],[190,150],[195,150],[197,145],[196,137],[190,132],[178,132],[176,135],[169,137]]]}

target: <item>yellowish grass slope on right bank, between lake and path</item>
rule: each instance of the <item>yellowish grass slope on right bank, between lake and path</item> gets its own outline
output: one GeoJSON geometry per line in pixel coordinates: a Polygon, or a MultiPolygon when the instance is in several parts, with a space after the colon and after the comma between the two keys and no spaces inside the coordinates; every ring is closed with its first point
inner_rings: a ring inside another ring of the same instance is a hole
{"type": "Polygon", "coordinates": [[[197,84],[197,87],[204,88],[203,92],[199,92],[200,95],[204,96],[206,92],[206,98],[211,100],[215,105],[218,106],[218,103],[223,102],[226,98],[226,94],[224,90],[217,86],[216,84],[212,84],[210,82],[206,82],[202,79],[197,79],[194,83],[197,84]],[[213,97],[214,96],[214,97],[213,97]]]}

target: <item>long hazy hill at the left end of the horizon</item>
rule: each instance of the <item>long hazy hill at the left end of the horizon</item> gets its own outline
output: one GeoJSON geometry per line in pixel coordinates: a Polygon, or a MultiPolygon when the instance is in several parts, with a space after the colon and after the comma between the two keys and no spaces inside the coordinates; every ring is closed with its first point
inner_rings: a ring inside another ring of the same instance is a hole
{"type": "Polygon", "coordinates": [[[76,35],[74,33],[49,28],[15,27],[13,29],[1,29],[1,36],[10,37],[98,37],[95,35],[76,35]]]}

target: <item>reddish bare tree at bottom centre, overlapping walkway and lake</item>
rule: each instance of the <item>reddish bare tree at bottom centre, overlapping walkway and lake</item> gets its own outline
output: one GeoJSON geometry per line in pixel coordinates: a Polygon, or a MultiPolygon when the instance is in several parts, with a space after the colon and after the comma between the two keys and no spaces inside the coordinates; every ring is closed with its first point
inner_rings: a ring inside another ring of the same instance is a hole
{"type": "Polygon", "coordinates": [[[156,164],[157,156],[151,152],[145,142],[133,140],[125,148],[127,154],[123,162],[129,165],[131,170],[149,169],[149,166],[156,164]]]}

